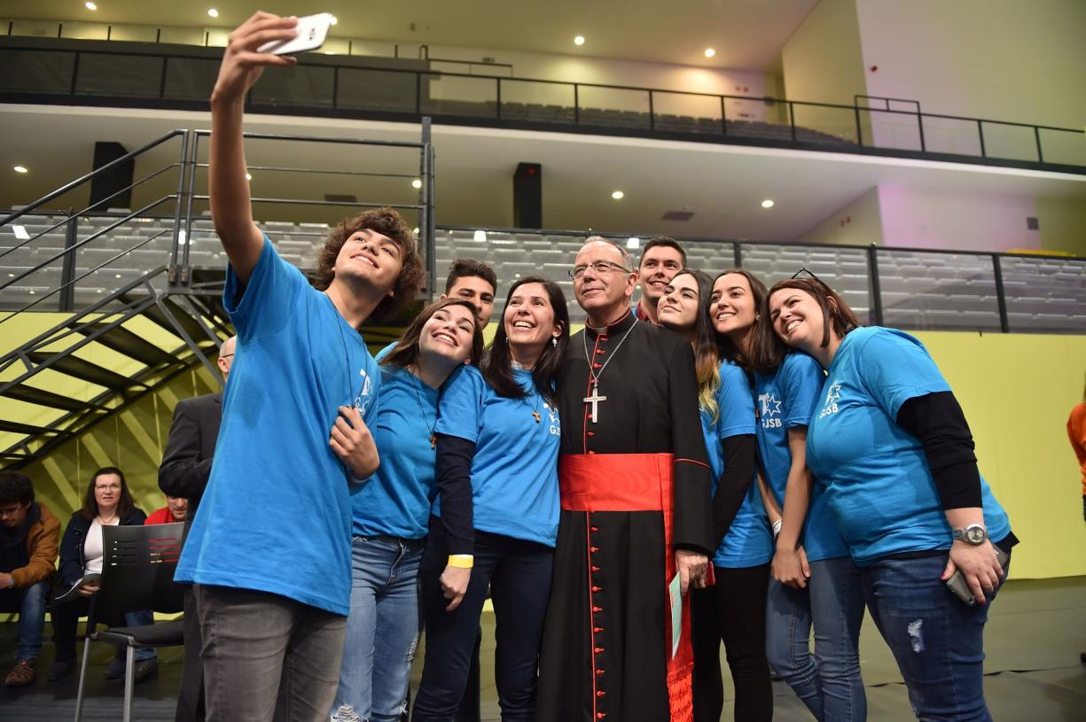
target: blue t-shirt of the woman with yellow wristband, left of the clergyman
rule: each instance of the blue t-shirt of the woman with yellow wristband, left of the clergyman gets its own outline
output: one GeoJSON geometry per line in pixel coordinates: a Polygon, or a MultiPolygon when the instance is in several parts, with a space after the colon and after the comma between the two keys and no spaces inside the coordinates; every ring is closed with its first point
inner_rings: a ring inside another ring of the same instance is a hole
{"type": "MultiPolygon", "coordinates": [[[[438,432],[476,445],[471,514],[479,531],[554,546],[558,536],[558,409],[535,391],[531,371],[514,370],[529,394],[503,398],[465,366],[445,384],[438,432]],[[535,421],[533,413],[540,415],[535,421]]],[[[434,514],[441,514],[434,505],[434,514]]]]}

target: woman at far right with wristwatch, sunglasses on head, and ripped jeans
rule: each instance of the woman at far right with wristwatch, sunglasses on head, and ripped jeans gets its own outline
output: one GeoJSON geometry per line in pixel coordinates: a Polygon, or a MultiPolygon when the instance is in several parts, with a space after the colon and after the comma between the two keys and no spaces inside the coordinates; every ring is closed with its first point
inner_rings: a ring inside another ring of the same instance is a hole
{"type": "Polygon", "coordinates": [[[977,469],[961,406],[918,339],[860,327],[818,279],[775,284],[769,309],[776,334],[826,370],[807,465],[859,566],[913,711],[992,719],[984,624],[1007,572],[996,547],[1009,558],[1018,540],[977,469]],[[956,569],[975,605],[948,591],[956,569]]]}

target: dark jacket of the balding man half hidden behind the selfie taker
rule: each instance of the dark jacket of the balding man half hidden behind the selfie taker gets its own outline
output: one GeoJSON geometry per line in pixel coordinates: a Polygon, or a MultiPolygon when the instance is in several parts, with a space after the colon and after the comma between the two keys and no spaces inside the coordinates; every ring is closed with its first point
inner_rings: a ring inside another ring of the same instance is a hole
{"type": "Polygon", "coordinates": [[[159,489],[189,501],[187,519],[195,516],[207,486],[222,418],[222,392],[185,398],[174,407],[174,422],[159,466],[159,489]]]}

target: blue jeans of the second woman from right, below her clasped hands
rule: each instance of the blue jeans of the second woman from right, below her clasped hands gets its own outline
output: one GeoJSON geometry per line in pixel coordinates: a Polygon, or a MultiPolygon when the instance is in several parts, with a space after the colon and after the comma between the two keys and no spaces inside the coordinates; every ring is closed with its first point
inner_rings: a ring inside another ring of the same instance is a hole
{"type": "Polygon", "coordinates": [[[860,679],[860,570],[848,557],[812,561],[810,569],[811,578],[803,590],[769,580],[769,663],[820,722],[864,720],[868,702],[860,679]]]}

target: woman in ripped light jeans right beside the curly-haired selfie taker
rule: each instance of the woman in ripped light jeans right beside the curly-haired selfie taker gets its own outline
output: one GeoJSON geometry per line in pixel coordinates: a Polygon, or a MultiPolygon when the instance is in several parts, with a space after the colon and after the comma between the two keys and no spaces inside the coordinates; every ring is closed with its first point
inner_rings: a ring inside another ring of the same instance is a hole
{"type": "Polygon", "coordinates": [[[380,358],[371,427],[381,465],[351,499],[351,611],[332,720],[399,719],[407,698],[418,568],[437,497],[438,396],[481,352],[476,306],[446,299],[424,308],[380,358]]]}

